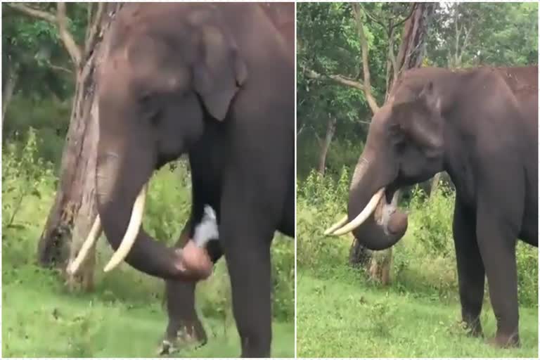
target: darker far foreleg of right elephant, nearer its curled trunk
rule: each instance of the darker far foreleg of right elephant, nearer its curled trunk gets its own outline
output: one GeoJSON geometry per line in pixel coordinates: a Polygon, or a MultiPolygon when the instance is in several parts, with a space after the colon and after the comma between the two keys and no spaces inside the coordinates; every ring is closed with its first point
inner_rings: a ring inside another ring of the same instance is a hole
{"type": "Polygon", "coordinates": [[[461,316],[471,335],[482,336],[480,312],[484,300],[485,271],[475,230],[474,212],[468,212],[456,197],[453,232],[458,263],[461,316]]]}

